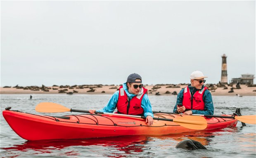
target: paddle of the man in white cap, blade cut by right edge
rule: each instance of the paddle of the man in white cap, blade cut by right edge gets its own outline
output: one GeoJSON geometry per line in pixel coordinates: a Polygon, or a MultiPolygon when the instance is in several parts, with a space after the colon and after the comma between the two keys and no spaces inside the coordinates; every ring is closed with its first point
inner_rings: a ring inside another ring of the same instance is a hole
{"type": "MultiPolygon", "coordinates": [[[[153,113],[178,114],[178,113],[161,112],[161,111],[153,111],[153,113]]],[[[214,117],[214,118],[233,118],[233,119],[237,119],[243,123],[256,124],[256,115],[245,115],[245,116],[221,116],[221,115],[201,115],[201,114],[192,114],[192,115],[193,116],[214,117]]]]}

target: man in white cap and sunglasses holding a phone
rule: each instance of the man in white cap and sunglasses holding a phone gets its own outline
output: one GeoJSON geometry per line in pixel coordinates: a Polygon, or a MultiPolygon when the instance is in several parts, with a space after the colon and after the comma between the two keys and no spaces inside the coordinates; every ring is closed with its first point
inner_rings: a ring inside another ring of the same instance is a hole
{"type": "Polygon", "coordinates": [[[204,86],[204,78],[207,77],[201,71],[191,73],[191,84],[179,92],[174,113],[213,115],[211,92],[204,86]]]}

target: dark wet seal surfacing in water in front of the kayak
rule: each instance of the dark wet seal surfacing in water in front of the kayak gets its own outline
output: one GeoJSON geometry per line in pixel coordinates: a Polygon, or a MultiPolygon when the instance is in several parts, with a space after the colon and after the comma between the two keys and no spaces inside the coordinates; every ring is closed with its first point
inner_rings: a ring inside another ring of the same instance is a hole
{"type": "Polygon", "coordinates": [[[204,147],[200,142],[192,139],[185,139],[183,141],[180,141],[175,148],[182,148],[187,150],[206,149],[206,147],[204,147]]]}

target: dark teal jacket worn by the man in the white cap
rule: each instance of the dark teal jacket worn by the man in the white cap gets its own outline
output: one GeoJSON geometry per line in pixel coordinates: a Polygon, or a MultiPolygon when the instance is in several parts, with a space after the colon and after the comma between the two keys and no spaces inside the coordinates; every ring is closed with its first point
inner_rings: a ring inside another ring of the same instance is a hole
{"type": "MultiPolygon", "coordinates": [[[[188,86],[188,88],[190,89],[190,92],[192,92],[192,94],[194,94],[197,91],[197,89],[195,87],[192,87],[191,84],[188,86]]],[[[203,88],[204,88],[204,85],[202,86],[201,90],[203,88]]],[[[184,88],[179,92],[177,96],[177,101],[173,108],[174,113],[177,113],[177,104],[182,104],[183,102],[183,94],[184,94],[184,88]]],[[[204,91],[203,101],[204,101],[204,110],[192,110],[192,113],[202,114],[202,115],[213,115],[213,112],[214,112],[213,99],[211,97],[211,92],[209,90],[204,91]]]]}

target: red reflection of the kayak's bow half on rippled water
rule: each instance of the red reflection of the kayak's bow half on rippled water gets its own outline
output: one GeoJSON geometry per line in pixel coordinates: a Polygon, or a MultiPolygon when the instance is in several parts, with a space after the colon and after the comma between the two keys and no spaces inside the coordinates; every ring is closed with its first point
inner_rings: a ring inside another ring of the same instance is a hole
{"type": "MultiPolygon", "coordinates": [[[[116,155],[114,157],[123,157],[124,153],[126,154],[136,154],[147,150],[145,148],[146,144],[152,141],[151,137],[146,136],[123,136],[123,137],[106,137],[106,138],[95,138],[95,139],[55,139],[55,140],[40,140],[40,141],[26,141],[22,144],[17,144],[12,147],[0,148],[5,150],[6,155],[12,155],[14,157],[23,157],[23,153],[14,151],[23,151],[31,153],[36,151],[39,153],[58,153],[59,150],[65,151],[63,155],[70,156],[76,155],[79,157],[83,156],[80,153],[81,151],[77,149],[84,149],[85,146],[88,146],[86,149],[93,149],[95,151],[95,146],[109,147],[108,149],[111,155],[116,155]],[[75,146],[72,148],[71,146],[75,146]],[[123,151],[123,152],[116,152],[123,151]],[[13,155],[14,154],[14,155],[13,155]]],[[[102,150],[102,148],[96,148],[102,150]]],[[[90,153],[90,150],[87,151],[90,153]]],[[[109,154],[109,153],[106,153],[109,154]]],[[[46,156],[47,157],[47,156],[46,156]]],[[[109,155],[107,155],[109,157],[109,155]]]]}

